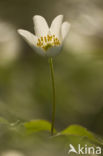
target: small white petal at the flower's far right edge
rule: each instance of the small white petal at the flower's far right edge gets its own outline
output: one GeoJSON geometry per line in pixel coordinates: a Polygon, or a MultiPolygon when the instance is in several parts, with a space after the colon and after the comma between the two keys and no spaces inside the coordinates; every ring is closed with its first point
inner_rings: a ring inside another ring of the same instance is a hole
{"type": "Polygon", "coordinates": [[[64,22],[62,24],[62,28],[61,28],[61,31],[62,31],[62,39],[64,40],[70,30],[70,27],[71,27],[71,24],[69,22],[64,22]]]}

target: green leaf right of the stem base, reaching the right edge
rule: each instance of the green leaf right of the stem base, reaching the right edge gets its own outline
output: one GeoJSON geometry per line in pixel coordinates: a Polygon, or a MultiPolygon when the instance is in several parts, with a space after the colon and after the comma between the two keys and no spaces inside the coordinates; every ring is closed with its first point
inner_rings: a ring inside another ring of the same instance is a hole
{"type": "Polygon", "coordinates": [[[103,145],[103,140],[101,138],[97,137],[94,133],[88,131],[86,128],[80,125],[71,125],[65,130],[61,131],[60,134],[87,137],[89,140],[103,145]]]}

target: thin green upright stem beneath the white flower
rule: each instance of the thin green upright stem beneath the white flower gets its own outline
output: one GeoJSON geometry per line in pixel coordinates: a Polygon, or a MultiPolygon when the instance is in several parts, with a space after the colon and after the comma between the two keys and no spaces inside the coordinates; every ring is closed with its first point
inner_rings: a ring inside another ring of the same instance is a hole
{"type": "Polygon", "coordinates": [[[55,83],[54,83],[54,68],[53,68],[52,58],[49,58],[49,66],[50,66],[52,90],[53,90],[52,123],[51,123],[51,135],[53,135],[53,133],[54,133],[54,123],[55,123],[55,83]]]}

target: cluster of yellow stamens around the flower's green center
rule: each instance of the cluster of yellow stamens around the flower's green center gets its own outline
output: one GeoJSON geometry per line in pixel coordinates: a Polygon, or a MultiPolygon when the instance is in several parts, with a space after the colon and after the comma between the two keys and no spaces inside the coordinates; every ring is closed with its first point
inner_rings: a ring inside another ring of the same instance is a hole
{"type": "Polygon", "coordinates": [[[44,37],[38,38],[37,46],[43,48],[45,51],[47,51],[49,48],[53,46],[59,46],[60,41],[55,35],[47,35],[44,37]]]}

